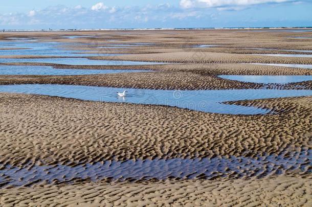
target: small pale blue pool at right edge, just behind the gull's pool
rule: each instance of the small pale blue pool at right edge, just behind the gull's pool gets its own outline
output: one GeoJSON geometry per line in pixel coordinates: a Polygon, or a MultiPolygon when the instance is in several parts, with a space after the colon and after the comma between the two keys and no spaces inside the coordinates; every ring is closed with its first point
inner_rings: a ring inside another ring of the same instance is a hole
{"type": "Polygon", "coordinates": [[[242,75],[220,75],[220,78],[225,78],[229,80],[237,80],[242,82],[252,82],[252,83],[293,83],[312,80],[312,76],[242,76],[242,75]]]}

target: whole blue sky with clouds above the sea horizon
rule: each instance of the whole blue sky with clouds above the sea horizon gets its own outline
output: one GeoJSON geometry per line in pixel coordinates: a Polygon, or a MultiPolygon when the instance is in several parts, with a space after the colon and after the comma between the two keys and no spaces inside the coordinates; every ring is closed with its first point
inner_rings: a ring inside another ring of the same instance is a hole
{"type": "Polygon", "coordinates": [[[3,29],[312,27],[312,0],[0,0],[3,29]]]}

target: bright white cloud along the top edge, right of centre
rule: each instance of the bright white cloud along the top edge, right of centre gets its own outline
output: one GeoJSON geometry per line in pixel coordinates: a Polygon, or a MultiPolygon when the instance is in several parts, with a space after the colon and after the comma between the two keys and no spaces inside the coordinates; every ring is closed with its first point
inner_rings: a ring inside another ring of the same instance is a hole
{"type": "Polygon", "coordinates": [[[247,6],[266,3],[294,2],[294,0],[181,0],[180,6],[191,7],[225,7],[225,6],[247,6]]]}

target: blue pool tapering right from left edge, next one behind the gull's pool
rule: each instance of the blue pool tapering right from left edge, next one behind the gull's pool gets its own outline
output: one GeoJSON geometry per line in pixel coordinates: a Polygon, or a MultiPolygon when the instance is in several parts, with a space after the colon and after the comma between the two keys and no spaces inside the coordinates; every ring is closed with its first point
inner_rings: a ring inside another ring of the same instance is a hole
{"type": "Polygon", "coordinates": [[[29,65],[0,65],[0,75],[92,75],[111,73],[136,73],[148,72],[145,70],[85,70],[85,69],[57,69],[52,66],[29,66],[29,65]]]}

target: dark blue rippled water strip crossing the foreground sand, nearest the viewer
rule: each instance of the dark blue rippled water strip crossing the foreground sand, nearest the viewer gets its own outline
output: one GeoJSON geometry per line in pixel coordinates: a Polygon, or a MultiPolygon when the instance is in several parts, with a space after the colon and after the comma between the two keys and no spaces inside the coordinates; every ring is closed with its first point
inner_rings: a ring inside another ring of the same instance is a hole
{"type": "Polygon", "coordinates": [[[287,155],[265,155],[250,157],[214,157],[203,159],[136,159],[124,162],[106,160],[99,163],[66,165],[25,165],[23,168],[0,165],[0,186],[23,186],[32,182],[71,182],[74,179],[100,181],[104,178],[132,181],[139,179],[202,178],[214,177],[265,177],[300,169],[309,173],[311,150],[288,152],[287,155]]]}

